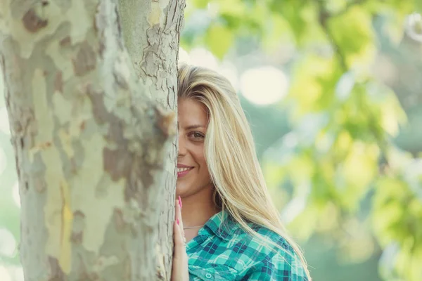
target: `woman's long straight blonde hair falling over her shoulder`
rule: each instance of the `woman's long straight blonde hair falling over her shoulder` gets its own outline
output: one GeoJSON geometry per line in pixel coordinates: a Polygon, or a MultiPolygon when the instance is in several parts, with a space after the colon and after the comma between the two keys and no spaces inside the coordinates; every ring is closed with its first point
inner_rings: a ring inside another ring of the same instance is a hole
{"type": "Polygon", "coordinates": [[[271,201],[248,120],[229,80],[212,70],[181,64],[178,98],[198,100],[207,107],[205,159],[215,186],[215,203],[222,211],[229,211],[252,235],[262,237],[248,226],[247,221],[281,235],[300,258],[310,281],[305,258],[298,245],[288,237],[279,211],[271,201]]]}

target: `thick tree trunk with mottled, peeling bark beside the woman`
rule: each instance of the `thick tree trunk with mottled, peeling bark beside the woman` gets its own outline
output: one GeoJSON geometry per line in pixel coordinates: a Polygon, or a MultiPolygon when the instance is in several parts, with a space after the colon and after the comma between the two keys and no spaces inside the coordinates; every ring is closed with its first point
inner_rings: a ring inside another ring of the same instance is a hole
{"type": "Polygon", "coordinates": [[[184,0],[0,0],[25,280],[170,280],[184,0]]]}

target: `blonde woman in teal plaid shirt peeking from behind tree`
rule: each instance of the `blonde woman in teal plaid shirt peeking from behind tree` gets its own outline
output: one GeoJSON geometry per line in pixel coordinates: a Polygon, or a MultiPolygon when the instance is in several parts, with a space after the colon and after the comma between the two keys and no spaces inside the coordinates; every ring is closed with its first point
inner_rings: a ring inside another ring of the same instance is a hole
{"type": "Polygon", "coordinates": [[[172,280],[310,281],[271,202],[229,81],[181,65],[178,86],[172,280]]]}

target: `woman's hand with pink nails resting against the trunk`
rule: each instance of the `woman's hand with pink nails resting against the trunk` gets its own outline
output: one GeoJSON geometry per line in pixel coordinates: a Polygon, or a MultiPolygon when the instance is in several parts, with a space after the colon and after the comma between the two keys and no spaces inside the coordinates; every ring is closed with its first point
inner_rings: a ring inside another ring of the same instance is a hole
{"type": "Polygon", "coordinates": [[[174,221],[174,254],[172,281],[188,281],[188,255],[184,246],[184,230],[181,221],[181,200],[176,200],[176,220],[174,221]]]}

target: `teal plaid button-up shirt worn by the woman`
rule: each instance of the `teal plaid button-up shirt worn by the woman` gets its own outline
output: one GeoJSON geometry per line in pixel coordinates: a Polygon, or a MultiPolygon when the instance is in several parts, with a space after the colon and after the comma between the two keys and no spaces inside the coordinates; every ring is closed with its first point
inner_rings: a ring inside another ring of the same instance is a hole
{"type": "Polygon", "coordinates": [[[292,255],[252,237],[220,211],[186,244],[189,280],[310,281],[286,240],[254,223],[249,226],[292,255]]]}

